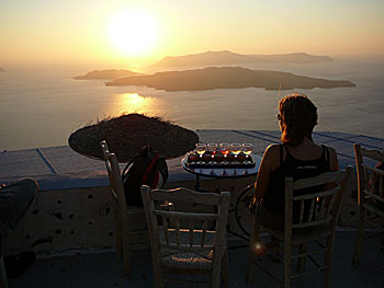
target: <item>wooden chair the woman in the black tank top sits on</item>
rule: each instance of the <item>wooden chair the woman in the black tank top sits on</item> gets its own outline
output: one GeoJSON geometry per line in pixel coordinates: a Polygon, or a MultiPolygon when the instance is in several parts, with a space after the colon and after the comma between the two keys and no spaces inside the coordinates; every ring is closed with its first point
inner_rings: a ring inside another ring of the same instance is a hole
{"type": "Polygon", "coordinates": [[[263,227],[266,232],[276,239],[276,245],[268,247],[259,235],[260,220],[257,216],[255,217],[246,270],[247,284],[253,281],[255,268],[258,267],[284,287],[291,287],[293,278],[321,270],[324,273],[324,286],[330,287],[335,229],[350,174],[351,168],[348,166],[343,171],[327,172],[316,177],[303,178],[296,182],[293,182],[291,177],[285,180],[284,230],[272,230],[263,227]],[[318,185],[324,187],[321,192],[295,195],[297,189],[318,185]],[[293,216],[294,206],[298,208],[298,214],[295,214],[296,217],[293,216]],[[315,255],[319,253],[325,253],[324,261],[319,261],[318,255],[315,258],[315,255]],[[262,256],[268,254],[272,254],[274,258],[283,262],[283,280],[282,277],[276,277],[259,262],[262,256]],[[312,262],[312,267],[307,267],[307,269],[305,269],[306,258],[312,262]],[[293,272],[292,268],[294,260],[296,260],[297,265],[296,272],[293,272]]]}

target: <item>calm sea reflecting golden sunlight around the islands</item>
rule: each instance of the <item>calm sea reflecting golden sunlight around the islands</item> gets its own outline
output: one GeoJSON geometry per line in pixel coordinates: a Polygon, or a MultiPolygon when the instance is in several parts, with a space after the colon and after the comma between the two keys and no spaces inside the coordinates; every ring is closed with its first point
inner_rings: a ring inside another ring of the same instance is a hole
{"type": "MultiPolygon", "coordinates": [[[[0,151],[64,146],[71,133],[128,113],[160,116],[189,129],[278,130],[279,100],[308,95],[318,108],[317,131],[384,138],[384,62],[238,65],[255,70],[350,80],[354,88],[267,91],[259,88],[167,92],[147,87],[105,87],[105,80],[74,80],[90,70],[4,67],[0,73],[0,151]]],[[[109,67],[114,68],[114,67],[109,67]]],[[[197,67],[162,68],[181,70],[197,67]]],[[[144,72],[159,69],[147,68],[144,72]]]]}

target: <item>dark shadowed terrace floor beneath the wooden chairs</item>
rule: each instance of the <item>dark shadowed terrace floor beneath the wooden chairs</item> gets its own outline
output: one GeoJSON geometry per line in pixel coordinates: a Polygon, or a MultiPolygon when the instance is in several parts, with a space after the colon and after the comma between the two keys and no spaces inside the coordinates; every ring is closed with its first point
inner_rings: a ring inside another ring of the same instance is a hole
{"type": "MultiPolygon", "coordinates": [[[[358,267],[351,264],[354,231],[338,231],[332,257],[331,287],[384,287],[384,252],[379,252],[379,240],[365,243],[358,267]]],[[[229,241],[229,287],[278,287],[269,276],[257,270],[253,285],[246,285],[247,247],[236,247],[245,242],[229,241]]],[[[269,270],[279,273],[280,263],[263,260],[269,270]]],[[[123,277],[123,263],[113,250],[70,251],[49,257],[39,257],[19,279],[10,279],[10,288],[106,288],[154,287],[150,252],[134,256],[129,280],[123,277]]],[[[282,275],[282,274],[280,274],[282,275]]],[[[321,274],[312,273],[293,281],[293,287],[323,287],[321,274]]]]}

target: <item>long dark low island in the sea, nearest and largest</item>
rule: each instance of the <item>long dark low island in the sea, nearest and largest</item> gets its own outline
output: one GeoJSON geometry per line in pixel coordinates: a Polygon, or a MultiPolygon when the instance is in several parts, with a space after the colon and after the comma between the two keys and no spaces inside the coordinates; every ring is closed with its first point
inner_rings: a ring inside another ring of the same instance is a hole
{"type": "Polygon", "coordinates": [[[234,88],[292,90],[313,88],[355,87],[348,80],[326,80],[289,72],[251,70],[241,67],[208,67],[184,71],[122,77],[105,85],[146,85],[165,91],[199,91],[234,88]]]}

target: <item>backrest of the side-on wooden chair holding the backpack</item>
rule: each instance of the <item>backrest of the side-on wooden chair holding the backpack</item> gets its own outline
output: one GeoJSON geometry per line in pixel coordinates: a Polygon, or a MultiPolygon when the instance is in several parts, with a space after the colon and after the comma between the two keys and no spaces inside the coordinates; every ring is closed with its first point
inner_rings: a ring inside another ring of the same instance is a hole
{"type": "Polygon", "coordinates": [[[115,215],[122,221],[122,226],[127,226],[126,218],[126,201],[124,194],[124,186],[122,182],[122,175],[120,172],[120,166],[117,162],[117,158],[114,153],[109,151],[108,145],[105,141],[100,142],[101,150],[103,153],[103,158],[105,161],[105,166],[108,171],[108,175],[111,184],[111,193],[115,200],[115,215]]]}

